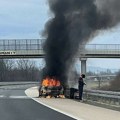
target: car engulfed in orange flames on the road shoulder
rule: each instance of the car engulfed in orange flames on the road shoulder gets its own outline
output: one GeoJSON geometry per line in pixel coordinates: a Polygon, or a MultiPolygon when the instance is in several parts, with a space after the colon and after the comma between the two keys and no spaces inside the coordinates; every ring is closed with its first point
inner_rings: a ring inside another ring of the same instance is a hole
{"type": "Polygon", "coordinates": [[[41,86],[39,88],[39,97],[62,97],[63,98],[64,89],[59,80],[55,77],[46,77],[42,80],[41,86]]]}

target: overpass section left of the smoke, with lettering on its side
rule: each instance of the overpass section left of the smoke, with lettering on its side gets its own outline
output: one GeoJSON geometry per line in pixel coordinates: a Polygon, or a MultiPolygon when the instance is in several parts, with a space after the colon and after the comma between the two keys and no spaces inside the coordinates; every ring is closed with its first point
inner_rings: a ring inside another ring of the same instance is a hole
{"type": "Polygon", "coordinates": [[[43,39],[0,40],[0,59],[43,58],[43,39]]]}

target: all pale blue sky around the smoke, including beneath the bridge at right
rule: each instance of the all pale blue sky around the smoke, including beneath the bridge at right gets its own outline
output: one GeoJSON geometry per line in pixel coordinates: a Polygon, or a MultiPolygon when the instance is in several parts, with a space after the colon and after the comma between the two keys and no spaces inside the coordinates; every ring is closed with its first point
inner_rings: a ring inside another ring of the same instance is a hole
{"type": "MultiPolygon", "coordinates": [[[[0,39],[39,39],[50,18],[47,0],[0,0],[0,39]]],[[[100,31],[88,44],[120,44],[120,25],[100,31]]],[[[120,59],[88,59],[87,65],[120,68],[120,59]]]]}

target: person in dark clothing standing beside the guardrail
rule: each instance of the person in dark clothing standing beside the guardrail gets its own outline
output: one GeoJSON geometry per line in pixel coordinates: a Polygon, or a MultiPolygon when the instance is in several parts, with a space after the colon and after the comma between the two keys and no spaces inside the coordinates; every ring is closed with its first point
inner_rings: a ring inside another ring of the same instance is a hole
{"type": "Polygon", "coordinates": [[[83,81],[83,78],[85,78],[85,74],[81,74],[79,81],[78,81],[79,100],[82,100],[83,87],[84,87],[84,85],[86,85],[83,81]]]}

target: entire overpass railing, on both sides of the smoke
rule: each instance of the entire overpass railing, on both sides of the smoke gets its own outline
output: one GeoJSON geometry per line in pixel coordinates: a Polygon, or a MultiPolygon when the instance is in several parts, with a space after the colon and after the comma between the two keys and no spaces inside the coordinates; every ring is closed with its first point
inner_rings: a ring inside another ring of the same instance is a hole
{"type": "MultiPolygon", "coordinates": [[[[0,40],[0,50],[43,50],[45,39],[10,39],[0,40]]],[[[87,44],[80,45],[82,54],[120,54],[120,44],[87,44]]]]}

